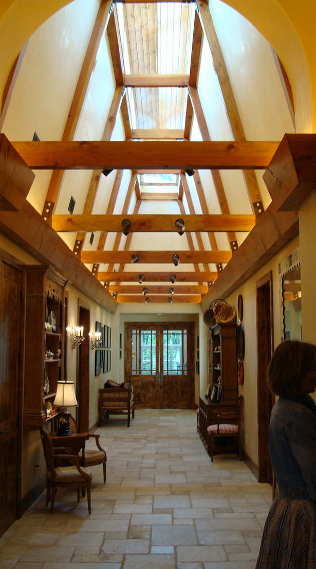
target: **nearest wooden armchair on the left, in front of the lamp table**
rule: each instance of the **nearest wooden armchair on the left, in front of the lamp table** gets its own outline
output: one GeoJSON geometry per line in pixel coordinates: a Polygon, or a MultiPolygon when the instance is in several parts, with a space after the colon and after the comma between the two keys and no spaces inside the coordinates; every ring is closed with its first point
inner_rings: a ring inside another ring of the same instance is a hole
{"type": "MultiPolygon", "coordinates": [[[[88,500],[88,510],[91,513],[91,481],[92,472],[88,468],[80,466],[81,457],[70,455],[63,448],[53,448],[52,439],[48,432],[40,427],[41,442],[43,444],[44,457],[46,462],[46,506],[51,501],[51,514],[53,513],[57,488],[77,488],[77,500],[80,501],[80,490],[86,490],[88,500]],[[55,451],[55,452],[54,452],[55,451]],[[56,466],[56,463],[68,464],[67,466],[56,466]]],[[[65,437],[66,439],[66,437],[65,437]]],[[[65,440],[66,445],[66,440],[65,440]]]]}

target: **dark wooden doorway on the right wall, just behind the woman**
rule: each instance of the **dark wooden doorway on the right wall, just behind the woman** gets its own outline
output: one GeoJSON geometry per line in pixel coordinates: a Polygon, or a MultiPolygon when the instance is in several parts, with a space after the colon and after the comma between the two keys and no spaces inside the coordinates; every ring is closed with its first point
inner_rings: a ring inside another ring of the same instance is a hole
{"type": "Polygon", "coordinates": [[[274,397],[267,384],[267,368],[273,352],[272,271],[256,281],[258,481],[272,482],[269,456],[269,423],[274,397]]]}

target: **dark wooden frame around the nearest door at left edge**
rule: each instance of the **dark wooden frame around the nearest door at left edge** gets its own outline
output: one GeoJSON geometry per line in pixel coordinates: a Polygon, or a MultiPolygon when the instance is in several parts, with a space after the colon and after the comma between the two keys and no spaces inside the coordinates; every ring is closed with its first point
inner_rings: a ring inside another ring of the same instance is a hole
{"type": "MultiPolygon", "coordinates": [[[[20,518],[23,514],[22,510],[22,427],[23,427],[23,382],[24,382],[24,328],[25,328],[25,303],[26,303],[26,269],[25,263],[7,253],[7,251],[0,248],[0,294],[2,282],[2,266],[3,262],[7,263],[18,270],[21,275],[21,288],[20,288],[20,330],[19,330],[19,366],[16,381],[16,414],[17,414],[17,435],[16,435],[16,508],[15,516],[20,518]]],[[[0,314],[1,318],[1,314],[0,314]]],[[[2,489],[5,490],[5,489],[2,489]]]]}

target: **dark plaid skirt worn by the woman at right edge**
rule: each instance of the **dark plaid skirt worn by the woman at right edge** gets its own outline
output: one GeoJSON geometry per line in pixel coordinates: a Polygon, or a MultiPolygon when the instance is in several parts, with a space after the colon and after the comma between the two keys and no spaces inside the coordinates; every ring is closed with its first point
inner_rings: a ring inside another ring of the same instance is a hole
{"type": "Polygon", "coordinates": [[[316,502],[277,496],[265,521],[256,569],[315,569],[316,502]]]}

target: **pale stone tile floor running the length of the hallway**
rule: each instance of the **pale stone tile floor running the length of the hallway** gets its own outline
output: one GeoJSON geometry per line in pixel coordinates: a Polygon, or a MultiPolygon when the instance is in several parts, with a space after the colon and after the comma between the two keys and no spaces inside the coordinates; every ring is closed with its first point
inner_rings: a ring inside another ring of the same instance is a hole
{"type": "MultiPolygon", "coordinates": [[[[236,455],[212,464],[189,410],[136,410],[98,428],[92,513],[76,490],[45,494],[0,538],[0,569],[253,569],[271,504],[236,455]]],[[[89,443],[90,444],[90,441],[89,443]]]]}

